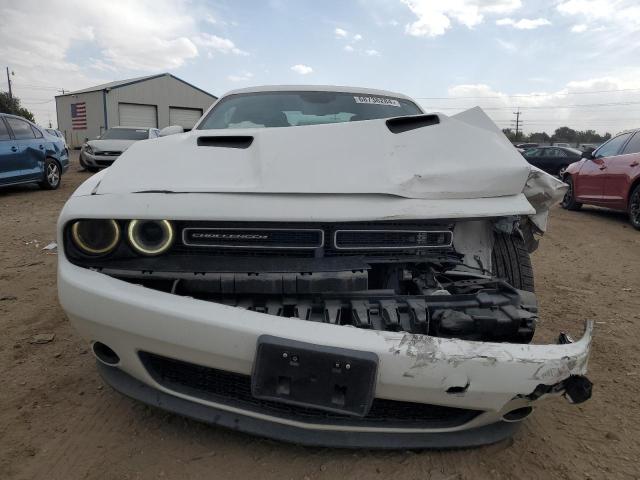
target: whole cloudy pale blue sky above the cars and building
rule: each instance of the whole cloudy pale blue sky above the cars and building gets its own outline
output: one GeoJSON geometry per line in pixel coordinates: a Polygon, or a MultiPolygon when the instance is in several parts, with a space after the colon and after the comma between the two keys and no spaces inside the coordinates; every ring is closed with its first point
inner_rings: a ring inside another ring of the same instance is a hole
{"type": "Polygon", "coordinates": [[[527,133],[616,133],[640,127],[640,2],[0,0],[0,66],[43,125],[62,89],[170,72],[216,96],[351,85],[479,105],[501,128],[520,109],[527,133]]]}

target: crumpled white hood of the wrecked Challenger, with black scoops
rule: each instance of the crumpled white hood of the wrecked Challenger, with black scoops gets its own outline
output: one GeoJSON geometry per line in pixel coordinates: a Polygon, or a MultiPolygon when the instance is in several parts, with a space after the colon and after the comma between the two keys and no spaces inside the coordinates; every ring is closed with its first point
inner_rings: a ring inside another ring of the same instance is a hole
{"type": "Polygon", "coordinates": [[[437,114],[438,123],[431,125],[433,116],[397,121],[408,118],[425,125],[407,130],[407,125],[393,128],[394,120],[380,119],[288,128],[192,130],[139,142],[108,169],[94,193],[385,194],[473,199],[523,192],[532,167],[481,109],[452,117],[437,114]]]}

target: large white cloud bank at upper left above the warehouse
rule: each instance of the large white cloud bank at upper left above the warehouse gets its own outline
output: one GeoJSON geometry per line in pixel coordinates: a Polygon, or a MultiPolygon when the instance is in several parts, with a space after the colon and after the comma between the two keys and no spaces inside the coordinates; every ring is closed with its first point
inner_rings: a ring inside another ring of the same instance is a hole
{"type": "Polygon", "coordinates": [[[53,96],[62,88],[174,70],[203,55],[245,54],[206,32],[223,24],[206,13],[191,0],[0,1],[0,58],[16,72],[14,93],[46,123],[55,121],[53,96]]]}

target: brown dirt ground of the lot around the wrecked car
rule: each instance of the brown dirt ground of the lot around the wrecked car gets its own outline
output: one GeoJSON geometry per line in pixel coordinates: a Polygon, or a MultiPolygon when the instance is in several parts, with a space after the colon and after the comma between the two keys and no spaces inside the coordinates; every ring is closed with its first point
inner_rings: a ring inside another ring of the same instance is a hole
{"type": "Polygon", "coordinates": [[[42,250],[89,176],[77,170],[76,155],[54,192],[0,190],[0,478],[640,478],[640,232],[624,215],[554,208],[534,254],[537,339],[577,337],[596,320],[589,402],[545,403],[512,440],[484,448],[312,449],[202,425],[103,386],[58,304],[56,255],[42,250]]]}

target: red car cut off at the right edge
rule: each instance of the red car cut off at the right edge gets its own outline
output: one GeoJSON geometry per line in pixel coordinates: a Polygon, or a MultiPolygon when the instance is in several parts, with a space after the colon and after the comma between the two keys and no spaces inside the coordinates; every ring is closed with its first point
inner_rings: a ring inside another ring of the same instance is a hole
{"type": "Polygon", "coordinates": [[[640,230],[640,129],[621,133],[582,157],[562,177],[569,185],[562,207],[578,210],[589,204],[628,212],[640,230]]]}

